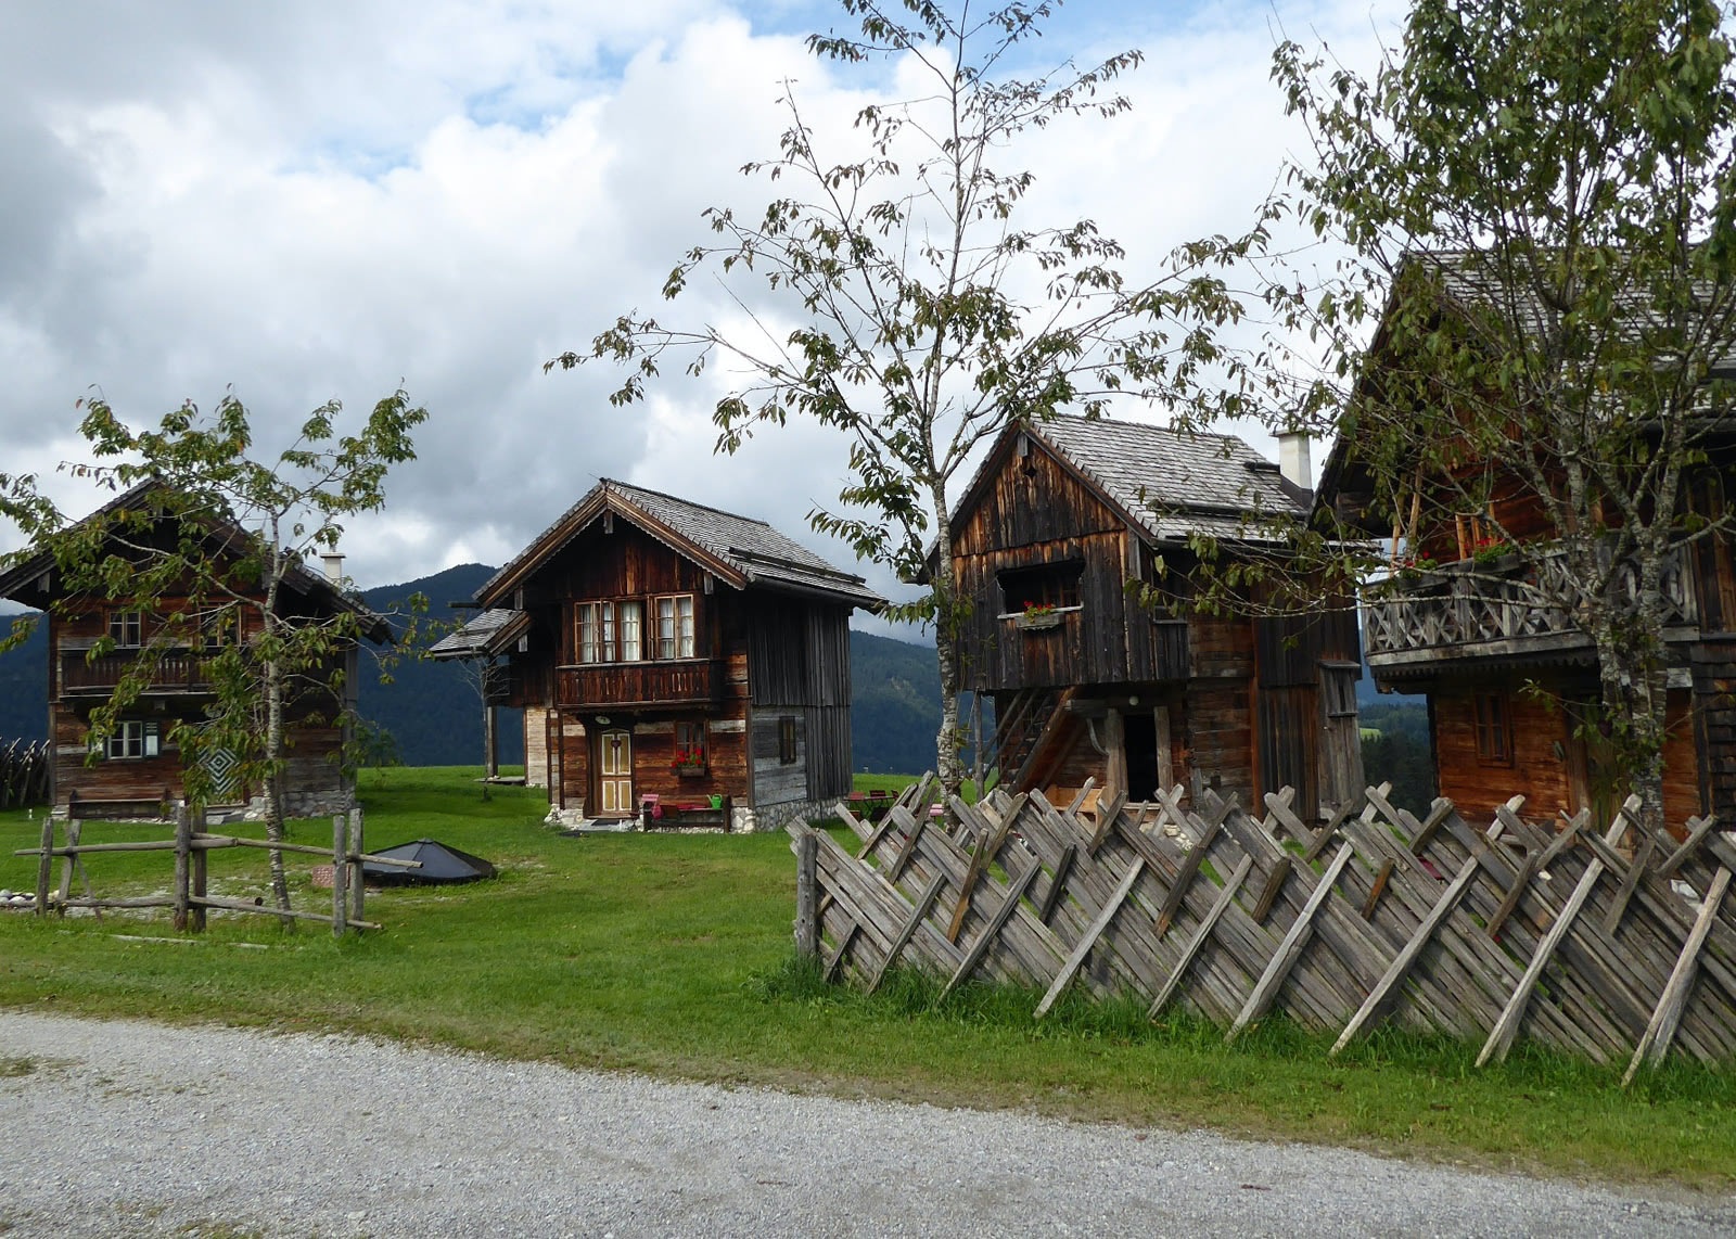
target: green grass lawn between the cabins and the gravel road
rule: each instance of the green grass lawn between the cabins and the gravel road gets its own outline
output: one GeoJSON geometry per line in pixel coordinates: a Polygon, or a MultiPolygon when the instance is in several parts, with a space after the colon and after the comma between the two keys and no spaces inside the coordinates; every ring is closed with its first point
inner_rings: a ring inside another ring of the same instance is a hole
{"type": "MultiPolygon", "coordinates": [[[[1672,1067],[1632,1092],[1618,1071],[1519,1050],[1476,1071],[1476,1046],[1377,1036],[1345,1062],[1274,1022],[1234,1048],[1135,1006],[934,987],[899,977],[861,998],[793,965],[795,864],[783,835],[562,838],[543,793],[476,770],[370,770],[368,845],[434,836],[500,866],[496,882],[368,895],[380,934],[283,934],[212,913],[191,944],[167,913],[0,913],[0,1005],[87,1015],[339,1029],[585,1067],[844,1095],[1019,1107],[1082,1119],[1210,1126],[1479,1164],[1736,1180],[1736,1078],[1672,1067]]],[[[0,887],[31,888],[38,824],[0,814],[0,887]]],[[[89,824],[85,840],[163,838],[161,826],[89,824]]],[[[293,838],[326,843],[328,823],[293,838]]],[[[300,857],[297,906],[321,909],[300,857]]],[[[92,856],[97,894],[168,887],[168,854],[92,856]]],[[[56,869],[56,876],[59,871],[56,869]]],[[[266,890],[264,854],[212,854],[219,894],[266,890]]]]}

